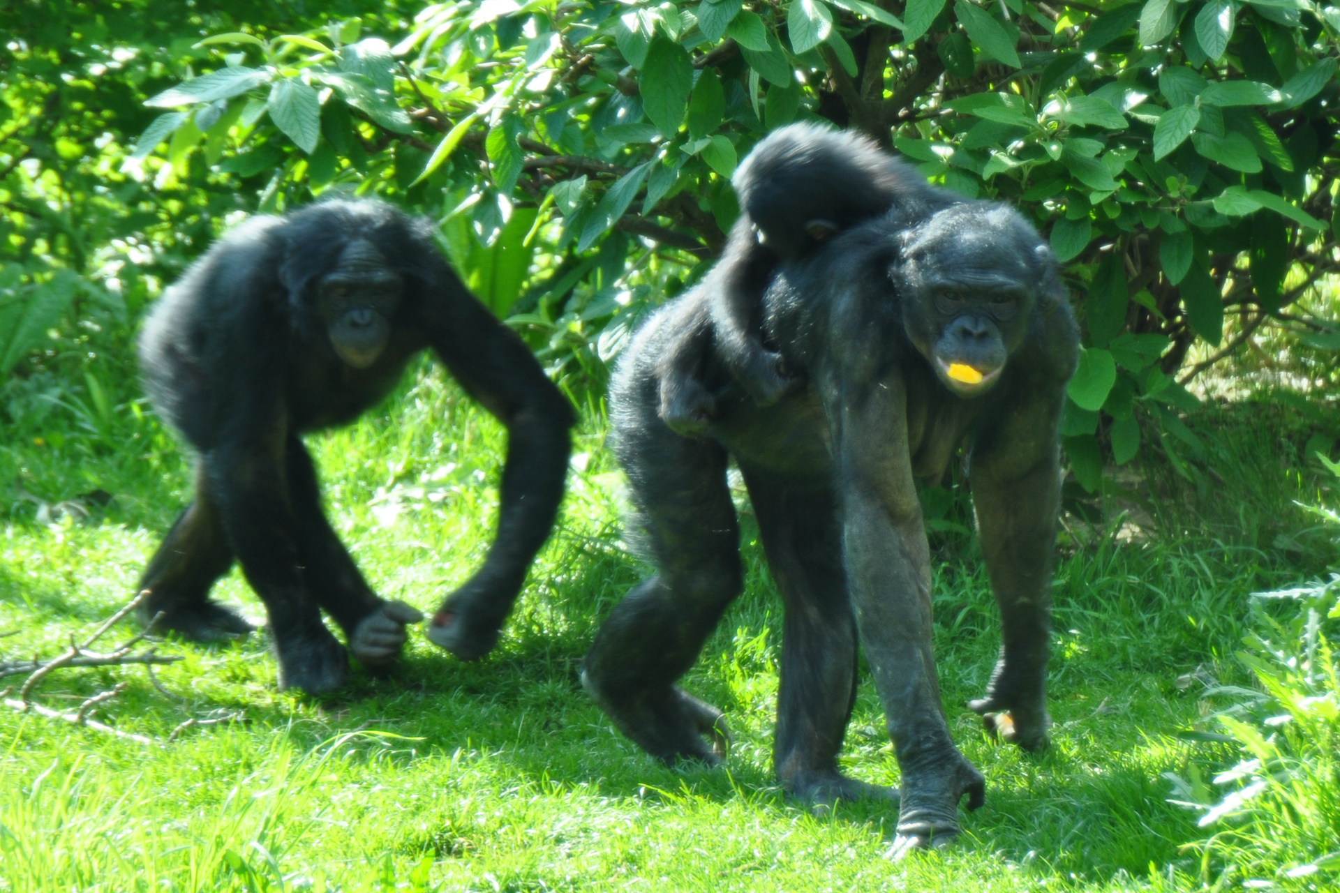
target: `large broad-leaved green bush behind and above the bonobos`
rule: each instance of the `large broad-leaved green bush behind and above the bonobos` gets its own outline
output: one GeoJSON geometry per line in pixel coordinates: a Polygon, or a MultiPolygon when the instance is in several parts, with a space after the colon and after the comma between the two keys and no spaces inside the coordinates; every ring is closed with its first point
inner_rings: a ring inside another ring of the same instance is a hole
{"type": "Polygon", "coordinates": [[[720,250],[766,130],[860,129],[1048,233],[1085,324],[1065,447],[1096,489],[1100,443],[1131,459],[1142,415],[1186,469],[1178,372],[1336,269],[1337,27],[1311,0],[461,0],[385,40],[356,19],[214,33],[126,170],[205,171],[260,210],[340,189],[434,214],[494,311],[599,379],[720,250]]]}

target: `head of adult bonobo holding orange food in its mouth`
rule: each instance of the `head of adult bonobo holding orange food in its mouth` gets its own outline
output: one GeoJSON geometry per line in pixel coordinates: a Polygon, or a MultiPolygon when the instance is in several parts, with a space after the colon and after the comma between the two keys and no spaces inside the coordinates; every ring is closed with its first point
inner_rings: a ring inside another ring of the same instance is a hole
{"type": "Polygon", "coordinates": [[[899,254],[907,336],[953,392],[985,394],[1056,281],[1051,249],[1012,208],[962,204],[909,230],[899,254]]]}

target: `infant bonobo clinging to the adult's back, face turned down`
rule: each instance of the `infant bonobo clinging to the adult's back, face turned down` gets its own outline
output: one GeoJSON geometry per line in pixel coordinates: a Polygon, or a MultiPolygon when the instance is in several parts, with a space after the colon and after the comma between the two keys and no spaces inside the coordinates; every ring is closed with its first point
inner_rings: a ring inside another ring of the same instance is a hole
{"type": "Polygon", "coordinates": [[[762,339],[762,295],[779,265],[894,206],[951,201],[866,137],[815,125],[775,130],[749,153],[732,185],[741,213],[704,284],[713,293],[708,313],[689,320],[661,359],[661,419],[683,435],[705,431],[717,411],[716,395],[702,383],[713,344],[760,406],[803,383],[762,339]]]}

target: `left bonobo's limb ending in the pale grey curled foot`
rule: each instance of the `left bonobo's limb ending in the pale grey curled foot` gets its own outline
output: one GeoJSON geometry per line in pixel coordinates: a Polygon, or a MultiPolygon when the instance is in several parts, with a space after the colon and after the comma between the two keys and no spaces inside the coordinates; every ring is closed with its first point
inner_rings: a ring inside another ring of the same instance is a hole
{"type": "Polygon", "coordinates": [[[288,438],[284,458],[307,589],[344,631],[360,663],[377,667],[393,661],[405,647],[405,624],[418,623],[423,615],[402,601],[378,598],[363,580],[322,511],[316,469],[300,439],[288,438]]]}

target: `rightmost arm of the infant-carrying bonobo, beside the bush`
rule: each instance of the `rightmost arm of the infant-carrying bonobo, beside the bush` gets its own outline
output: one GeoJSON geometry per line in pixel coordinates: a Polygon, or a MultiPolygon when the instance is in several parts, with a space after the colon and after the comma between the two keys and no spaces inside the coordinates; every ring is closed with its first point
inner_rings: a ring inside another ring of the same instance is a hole
{"type": "Polygon", "coordinates": [[[1052,561],[1060,505],[1057,426],[1061,382],[1021,388],[984,430],[969,459],[969,482],[986,573],[1001,611],[1001,657],[986,696],[969,704],[1025,750],[1047,746],[1047,656],[1052,561]],[[1000,723],[996,714],[1009,714],[1000,723]]]}

